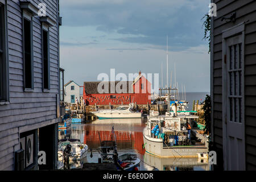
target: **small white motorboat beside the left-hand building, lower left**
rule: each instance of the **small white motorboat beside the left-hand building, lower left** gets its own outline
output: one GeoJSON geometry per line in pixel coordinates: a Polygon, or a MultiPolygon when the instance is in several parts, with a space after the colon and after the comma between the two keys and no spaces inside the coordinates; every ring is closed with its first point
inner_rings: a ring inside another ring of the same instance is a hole
{"type": "Polygon", "coordinates": [[[71,147],[70,151],[68,152],[69,160],[81,160],[86,158],[86,154],[88,152],[88,146],[80,142],[79,139],[60,139],[59,140],[59,149],[58,149],[58,156],[59,160],[64,160],[64,150],[67,146],[71,147]]]}

